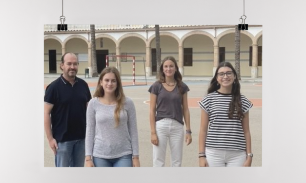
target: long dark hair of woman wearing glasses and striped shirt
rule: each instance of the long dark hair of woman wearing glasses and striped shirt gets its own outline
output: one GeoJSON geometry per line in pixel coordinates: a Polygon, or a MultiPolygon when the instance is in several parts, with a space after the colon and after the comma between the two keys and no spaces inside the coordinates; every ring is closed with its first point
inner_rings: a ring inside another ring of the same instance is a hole
{"type": "Polygon", "coordinates": [[[220,89],[220,85],[218,84],[218,81],[217,81],[217,77],[218,77],[217,73],[221,67],[229,67],[233,71],[236,77],[234,80],[233,86],[232,86],[232,91],[231,91],[232,101],[229,104],[228,117],[231,119],[234,118],[233,116],[236,110],[237,115],[238,115],[237,118],[242,119],[244,117],[244,113],[242,111],[242,103],[241,103],[241,93],[240,93],[241,87],[240,87],[240,83],[237,77],[237,73],[230,62],[221,62],[219,64],[219,66],[216,69],[214,77],[210,81],[210,85],[208,87],[207,94],[220,89]]]}

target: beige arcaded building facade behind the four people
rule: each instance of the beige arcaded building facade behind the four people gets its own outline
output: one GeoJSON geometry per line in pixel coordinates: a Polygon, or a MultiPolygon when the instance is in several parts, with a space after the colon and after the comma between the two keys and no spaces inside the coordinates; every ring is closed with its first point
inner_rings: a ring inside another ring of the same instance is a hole
{"type": "MultiPolygon", "coordinates": [[[[44,25],[44,73],[61,73],[61,55],[73,52],[79,57],[79,73],[92,70],[90,25],[68,25],[68,31],[57,31],[57,25],[44,25]]],[[[95,25],[97,67],[116,66],[122,75],[156,74],[154,25],[95,25]]],[[[174,56],[185,76],[212,76],[218,63],[235,62],[235,25],[160,25],[162,59],[174,56]]],[[[248,25],[241,31],[241,76],[262,77],[262,25],[248,25]]]]}

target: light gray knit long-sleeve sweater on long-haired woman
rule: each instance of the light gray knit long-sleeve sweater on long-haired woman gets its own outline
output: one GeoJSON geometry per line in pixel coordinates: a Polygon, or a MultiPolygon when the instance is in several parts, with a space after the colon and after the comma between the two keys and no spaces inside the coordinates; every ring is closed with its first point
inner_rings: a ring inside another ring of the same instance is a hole
{"type": "Polygon", "coordinates": [[[138,156],[138,131],[133,101],[126,97],[115,128],[115,105],[102,104],[92,98],[87,107],[85,155],[113,159],[132,154],[138,156]]]}

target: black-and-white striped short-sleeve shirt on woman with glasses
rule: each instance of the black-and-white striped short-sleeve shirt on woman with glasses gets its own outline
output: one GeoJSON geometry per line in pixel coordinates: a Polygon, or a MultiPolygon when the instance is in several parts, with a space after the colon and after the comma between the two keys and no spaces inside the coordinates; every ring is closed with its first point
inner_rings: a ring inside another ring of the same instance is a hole
{"type": "MultiPolygon", "coordinates": [[[[208,113],[209,125],[205,146],[210,148],[235,149],[245,151],[245,134],[241,119],[229,119],[228,109],[232,100],[231,94],[218,91],[207,94],[199,102],[200,107],[208,113]]],[[[243,113],[253,104],[241,95],[243,113]]],[[[235,111],[237,115],[237,112],[235,111]]]]}

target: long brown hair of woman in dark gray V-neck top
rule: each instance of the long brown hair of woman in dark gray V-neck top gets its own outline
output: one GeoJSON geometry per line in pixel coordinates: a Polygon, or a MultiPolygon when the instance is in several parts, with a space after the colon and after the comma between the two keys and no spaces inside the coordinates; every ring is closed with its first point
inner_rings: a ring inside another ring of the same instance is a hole
{"type": "Polygon", "coordinates": [[[182,77],[182,74],[179,72],[179,66],[178,66],[178,63],[177,61],[175,60],[175,58],[173,56],[166,56],[162,63],[161,63],[161,67],[160,67],[160,72],[159,72],[159,82],[160,83],[164,83],[166,80],[165,80],[165,75],[163,73],[163,63],[167,60],[171,60],[174,65],[175,65],[175,68],[176,68],[176,72],[174,73],[174,79],[179,87],[179,91],[181,94],[183,94],[183,88],[182,88],[182,80],[183,80],[183,77],[182,77]]]}

